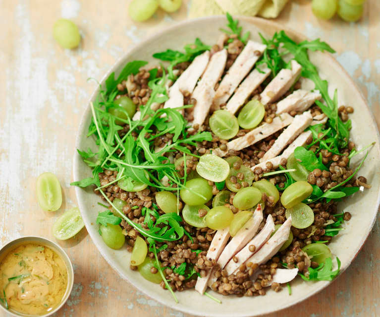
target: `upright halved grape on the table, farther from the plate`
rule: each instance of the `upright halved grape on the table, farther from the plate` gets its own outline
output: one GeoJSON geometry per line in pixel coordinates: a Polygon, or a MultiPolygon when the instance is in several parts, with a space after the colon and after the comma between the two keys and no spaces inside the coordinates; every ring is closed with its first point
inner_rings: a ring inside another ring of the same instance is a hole
{"type": "Polygon", "coordinates": [[[57,177],[52,173],[43,173],[36,182],[37,200],[45,211],[55,211],[62,204],[62,190],[57,177]]]}

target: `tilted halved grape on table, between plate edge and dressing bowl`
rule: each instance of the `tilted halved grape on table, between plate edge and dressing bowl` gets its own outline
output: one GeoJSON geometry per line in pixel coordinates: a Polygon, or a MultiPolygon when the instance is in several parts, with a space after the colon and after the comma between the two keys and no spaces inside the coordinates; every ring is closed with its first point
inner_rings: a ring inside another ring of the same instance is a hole
{"type": "Polygon", "coordinates": [[[84,227],[83,219],[77,207],[60,215],[53,225],[53,235],[58,240],[67,240],[75,236],[84,227]]]}

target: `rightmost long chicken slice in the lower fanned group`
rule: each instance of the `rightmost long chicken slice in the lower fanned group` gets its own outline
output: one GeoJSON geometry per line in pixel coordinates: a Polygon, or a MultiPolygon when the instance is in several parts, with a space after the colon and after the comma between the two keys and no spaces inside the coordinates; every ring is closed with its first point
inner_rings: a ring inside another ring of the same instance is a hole
{"type": "Polygon", "coordinates": [[[282,226],[274,233],[273,236],[264,244],[261,249],[254,253],[247,262],[257,263],[259,265],[266,263],[274,254],[280,250],[282,245],[288,240],[292,218],[289,217],[282,226]]]}

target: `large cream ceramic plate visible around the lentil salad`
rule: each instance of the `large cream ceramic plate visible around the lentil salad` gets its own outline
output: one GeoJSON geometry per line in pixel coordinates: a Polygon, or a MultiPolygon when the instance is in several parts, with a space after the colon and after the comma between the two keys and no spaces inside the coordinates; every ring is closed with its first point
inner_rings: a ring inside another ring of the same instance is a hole
{"type": "MultiPolygon", "coordinates": [[[[251,31],[251,39],[261,42],[258,32],[261,32],[266,37],[271,37],[274,32],[283,29],[282,26],[268,20],[260,18],[240,17],[240,24],[244,31],[251,31]]],[[[196,20],[187,20],[176,24],[153,37],[150,37],[138,45],[134,46],[125,56],[120,59],[105,75],[104,80],[109,74],[114,71],[116,75],[122,67],[133,60],[149,61],[150,65],[157,65],[158,61],[152,58],[155,52],[161,52],[167,48],[174,50],[182,50],[187,43],[193,43],[196,37],[202,39],[206,44],[213,45],[217,42],[220,35],[219,28],[226,24],[225,17],[214,16],[200,18],[196,20]]],[[[296,41],[302,41],[305,38],[294,31],[285,29],[286,33],[296,41]]],[[[331,252],[337,255],[341,262],[341,273],[348,267],[351,261],[358,254],[360,248],[367,239],[371,228],[376,219],[376,214],[379,207],[379,189],[380,189],[380,139],[375,120],[357,86],[345,72],[345,70],[337,63],[331,55],[320,52],[310,53],[311,61],[316,64],[320,70],[321,77],[326,78],[329,83],[330,95],[333,90],[338,89],[339,105],[349,105],[354,107],[355,112],[350,116],[352,119],[351,135],[353,141],[363,147],[373,141],[376,145],[371,149],[360,175],[367,177],[368,183],[372,185],[370,190],[358,191],[349,199],[345,199],[339,204],[339,210],[349,211],[352,218],[345,224],[345,230],[339,233],[339,237],[334,239],[329,245],[331,252]]],[[[149,65],[148,65],[149,66],[149,65]]],[[[98,90],[94,92],[91,101],[95,99],[98,90]]],[[[86,138],[87,129],[91,120],[90,108],[88,107],[79,127],[76,140],[76,147],[79,149],[87,149],[89,146],[95,146],[92,138],[86,138]]],[[[358,162],[362,157],[355,157],[352,164],[358,162]]],[[[90,169],[83,163],[79,154],[74,157],[74,180],[80,180],[91,176],[90,169]]],[[[117,271],[117,273],[133,284],[137,289],[141,290],[148,296],[176,310],[200,316],[258,316],[261,314],[271,313],[300,301],[307,299],[313,294],[321,291],[330,282],[304,282],[300,278],[292,282],[292,296],[289,296],[286,291],[275,293],[268,291],[266,296],[258,297],[224,297],[220,294],[211,292],[217,298],[222,300],[219,305],[210,300],[206,296],[201,296],[194,290],[185,292],[177,292],[176,295],[179,304],[175,304],[173,298],[168,291],[156,284],[152,284],[145,280],[138,272],[129,269],[128,253],[123,247],[121,250],[114,251],[109,249],[98,233],[98,225],[96,217],[99,211],[100,201],[92,188],[80,189],[76,188],[79,209],[81,210],[86,228],[99,249],[100,253],[109,262],[109,265],[117,271]],[[239,309],[236,309],[236,308],[239,309]]]]}

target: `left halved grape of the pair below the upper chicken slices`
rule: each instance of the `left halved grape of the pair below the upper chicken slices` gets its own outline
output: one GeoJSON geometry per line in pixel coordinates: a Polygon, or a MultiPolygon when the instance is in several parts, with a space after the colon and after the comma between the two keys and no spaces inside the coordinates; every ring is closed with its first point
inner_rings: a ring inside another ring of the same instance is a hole
{"type": "Polygon", "coordinates": [[[210,117],[209,125],[215,135],[228,140],[239,132],[237,118],[227,110],[217,110],[210,117]]]}

